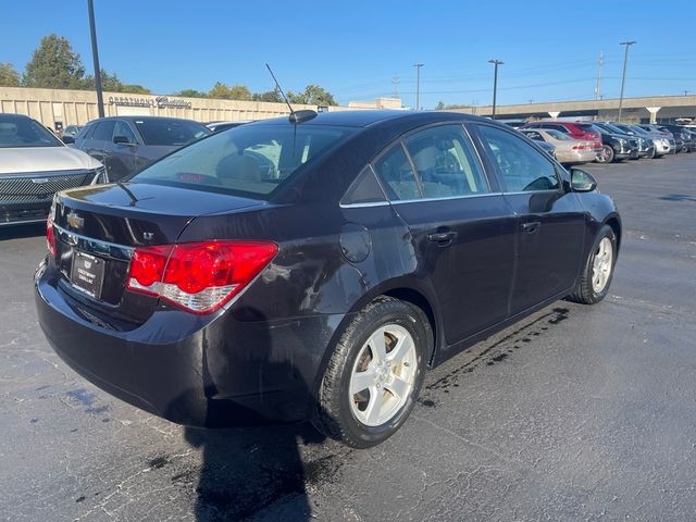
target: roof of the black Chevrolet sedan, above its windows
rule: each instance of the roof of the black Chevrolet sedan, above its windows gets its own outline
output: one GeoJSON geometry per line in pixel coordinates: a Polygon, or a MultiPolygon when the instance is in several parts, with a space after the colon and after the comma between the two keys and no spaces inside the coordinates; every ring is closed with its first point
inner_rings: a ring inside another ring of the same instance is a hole
{"type": "MultiPolygon", "coordinates": [[[[320,112],[311,120],[298,125],[328,125],[339,127],[368,127],[382,122],[397,123],[400,121],[418,121],[421,124],[447,120],[489,121],[481,116],[472,116],[459,112],[443,111],[397,111],[397,110],[366,110],[366,111],[335,111],[320,112]]],[[[287,116],[261,120],[249,125],[290,125],[287,116]]]]}

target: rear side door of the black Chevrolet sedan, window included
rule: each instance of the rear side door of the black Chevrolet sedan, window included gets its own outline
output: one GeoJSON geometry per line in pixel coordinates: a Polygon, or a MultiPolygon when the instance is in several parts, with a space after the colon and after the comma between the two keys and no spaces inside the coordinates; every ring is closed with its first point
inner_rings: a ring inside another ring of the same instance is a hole
{"type": "Polygon", "coordinates": [[[514,217],[459,124],[407,136],[373,162],[420,251],[451,345],[508,315],[514,217]]]}

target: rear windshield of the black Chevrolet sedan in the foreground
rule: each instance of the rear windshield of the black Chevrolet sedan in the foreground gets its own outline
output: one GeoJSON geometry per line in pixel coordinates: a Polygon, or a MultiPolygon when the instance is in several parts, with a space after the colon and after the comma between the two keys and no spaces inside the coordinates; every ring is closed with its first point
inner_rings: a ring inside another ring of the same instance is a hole
{"type": "Polygon", "coordinates": [[[350,128],[240,125],[165,157],[130,181],[264,199],[350,128]]]}

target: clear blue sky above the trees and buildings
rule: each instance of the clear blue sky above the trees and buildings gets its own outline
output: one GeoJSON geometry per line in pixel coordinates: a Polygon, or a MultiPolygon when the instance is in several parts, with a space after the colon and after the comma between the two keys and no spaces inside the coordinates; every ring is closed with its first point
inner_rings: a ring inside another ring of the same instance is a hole
{"type": "MultiPolygon", "coordinates": [[[[95,0],[101,66],[158,94],[208,90],[216,82],[286,90],[313,83],[340,103],[389,96],[406,105],[618,98],[623,40],[631,48],[625,96],[696,92],[696,0],[507,0],[241,2],[95,0]]],[[[86,0],[3,2],[0,62],[22,71],[39,39],[66,37],[91,73],[86,0]]]]}

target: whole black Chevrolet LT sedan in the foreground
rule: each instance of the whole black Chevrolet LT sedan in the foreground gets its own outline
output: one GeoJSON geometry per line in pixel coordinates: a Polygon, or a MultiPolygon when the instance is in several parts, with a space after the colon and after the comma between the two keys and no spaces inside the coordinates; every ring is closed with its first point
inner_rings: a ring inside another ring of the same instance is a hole
{"type": "Polygon", "coordinates": [[[177,423],[311,419],[369,447],[427,368],[607,295],[612,200],[517,130],[446,112],[293,121],[58,196],[36,303],[69,365],[177,423]]]}

